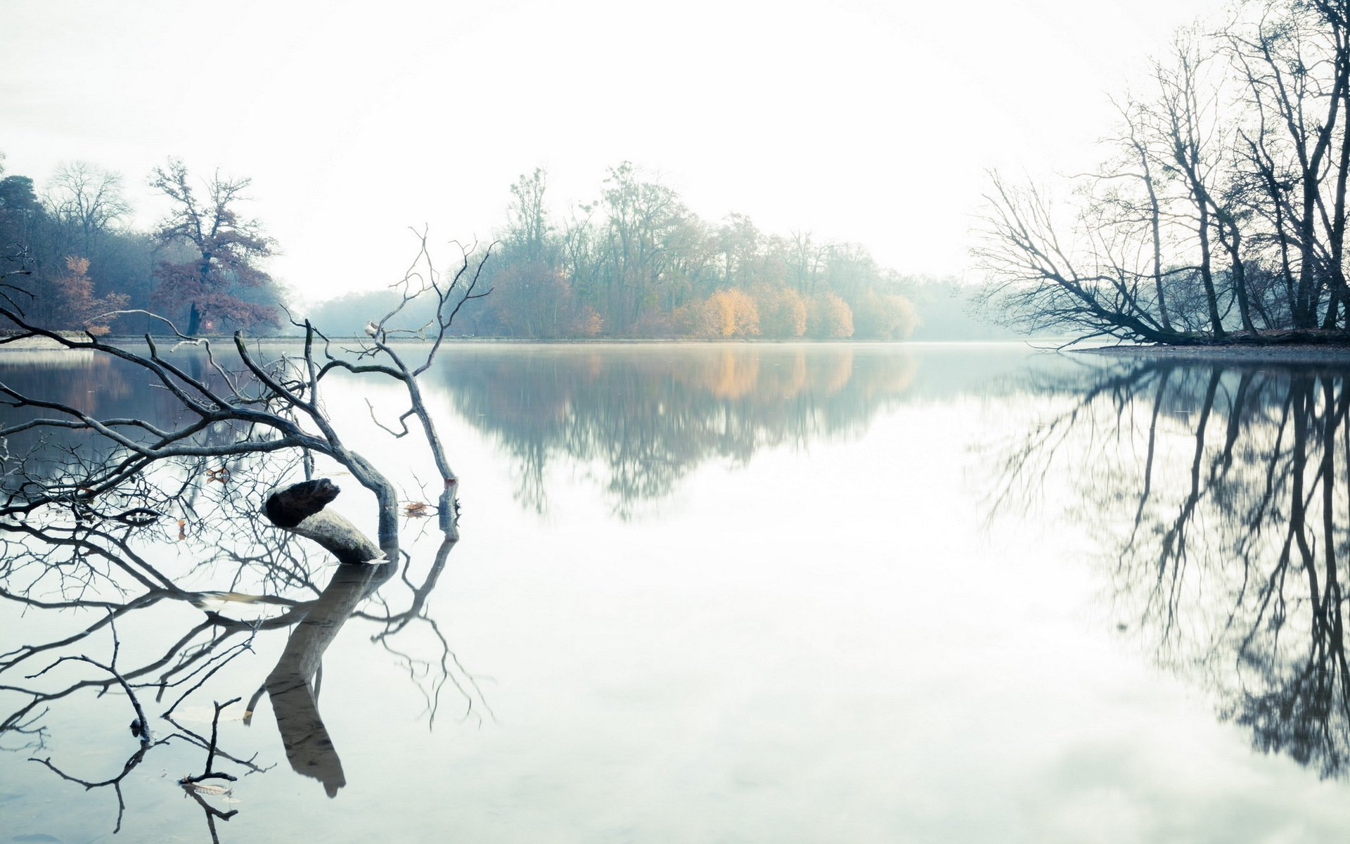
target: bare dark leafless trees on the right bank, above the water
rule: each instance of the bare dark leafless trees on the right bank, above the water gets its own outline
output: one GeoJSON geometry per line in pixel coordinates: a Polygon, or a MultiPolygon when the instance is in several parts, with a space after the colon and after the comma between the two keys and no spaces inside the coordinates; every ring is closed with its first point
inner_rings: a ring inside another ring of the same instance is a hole
{"type": "Polygon", "coordinates": [[[1350,335],[1350,0],[1239,0],[1115,101],[1066,209],[995,176],[987,312],[1161,343],[1350,335]]]}

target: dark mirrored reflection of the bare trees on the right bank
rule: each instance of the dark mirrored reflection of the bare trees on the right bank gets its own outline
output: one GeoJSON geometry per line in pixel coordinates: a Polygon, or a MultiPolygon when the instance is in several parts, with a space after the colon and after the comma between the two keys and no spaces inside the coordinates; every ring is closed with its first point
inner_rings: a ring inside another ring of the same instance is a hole
{"type": "Polygon", "coordinates": [[[1342,582],[1350,370],[1138,361],[1037,385],[1058,409],[1004,452],[999,505],[1054,473],[1111,563],[1122,629],[1220,717],[1324,778],[1350,752],[1342,582]]]}

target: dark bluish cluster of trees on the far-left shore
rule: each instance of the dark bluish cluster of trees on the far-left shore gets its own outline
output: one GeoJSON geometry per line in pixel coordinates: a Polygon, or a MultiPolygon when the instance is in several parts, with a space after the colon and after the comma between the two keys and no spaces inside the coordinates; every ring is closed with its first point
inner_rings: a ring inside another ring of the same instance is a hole
{"type": "Polygon", "coordinates": [[[239,211],[247,178],[194,180],[170,159],[150,182],[170,203],[154,230],[128,223],[122,176],[57,167],[39,189],[0,155],[0,305],[34,325],[104,335],[275,329],[286,292],[263,269],[275,244],[239,211]]]}

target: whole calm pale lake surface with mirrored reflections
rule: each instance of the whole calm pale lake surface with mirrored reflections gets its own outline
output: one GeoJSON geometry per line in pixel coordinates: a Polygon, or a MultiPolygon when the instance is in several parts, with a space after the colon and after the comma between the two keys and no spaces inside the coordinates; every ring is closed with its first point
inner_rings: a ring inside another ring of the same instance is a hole
{"type": "MultiPolygon", "coordinates": [[[[153,582],[11,536],[0,841],[1343,840],[1346,375],[452,347],[428,374],[452,548],[410,519],[397,571],[292,559],[247,463],[130,543],[153,582]],[[317,704],[279,690],[333,629],[317,704]],[[139,755],[107,672],[28,678],[109,663],[113,631],[177,736],[139,755]],[[215,767],[239,781],[185,794],[236,697],[215,767]]],[[[173,412],[72,355],[0,357],[0,381],[173,412]]],[[[356,386],[331,415],[429,500],[425,455],[369,419],[398,396],[356,386]]]]}

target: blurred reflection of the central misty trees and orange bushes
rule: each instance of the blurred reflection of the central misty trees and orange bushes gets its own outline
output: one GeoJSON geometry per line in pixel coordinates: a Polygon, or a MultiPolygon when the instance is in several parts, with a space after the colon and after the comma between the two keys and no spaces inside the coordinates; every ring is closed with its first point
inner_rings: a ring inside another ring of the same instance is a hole
{"type": "Polygon", "coordinates": [[[516,500],[545,512],[552,465],[598,467],[629,517],[713,459],[859,436],[909,390],[894,347],[464,347],[433,374],[513,465],[516,500]]]}

